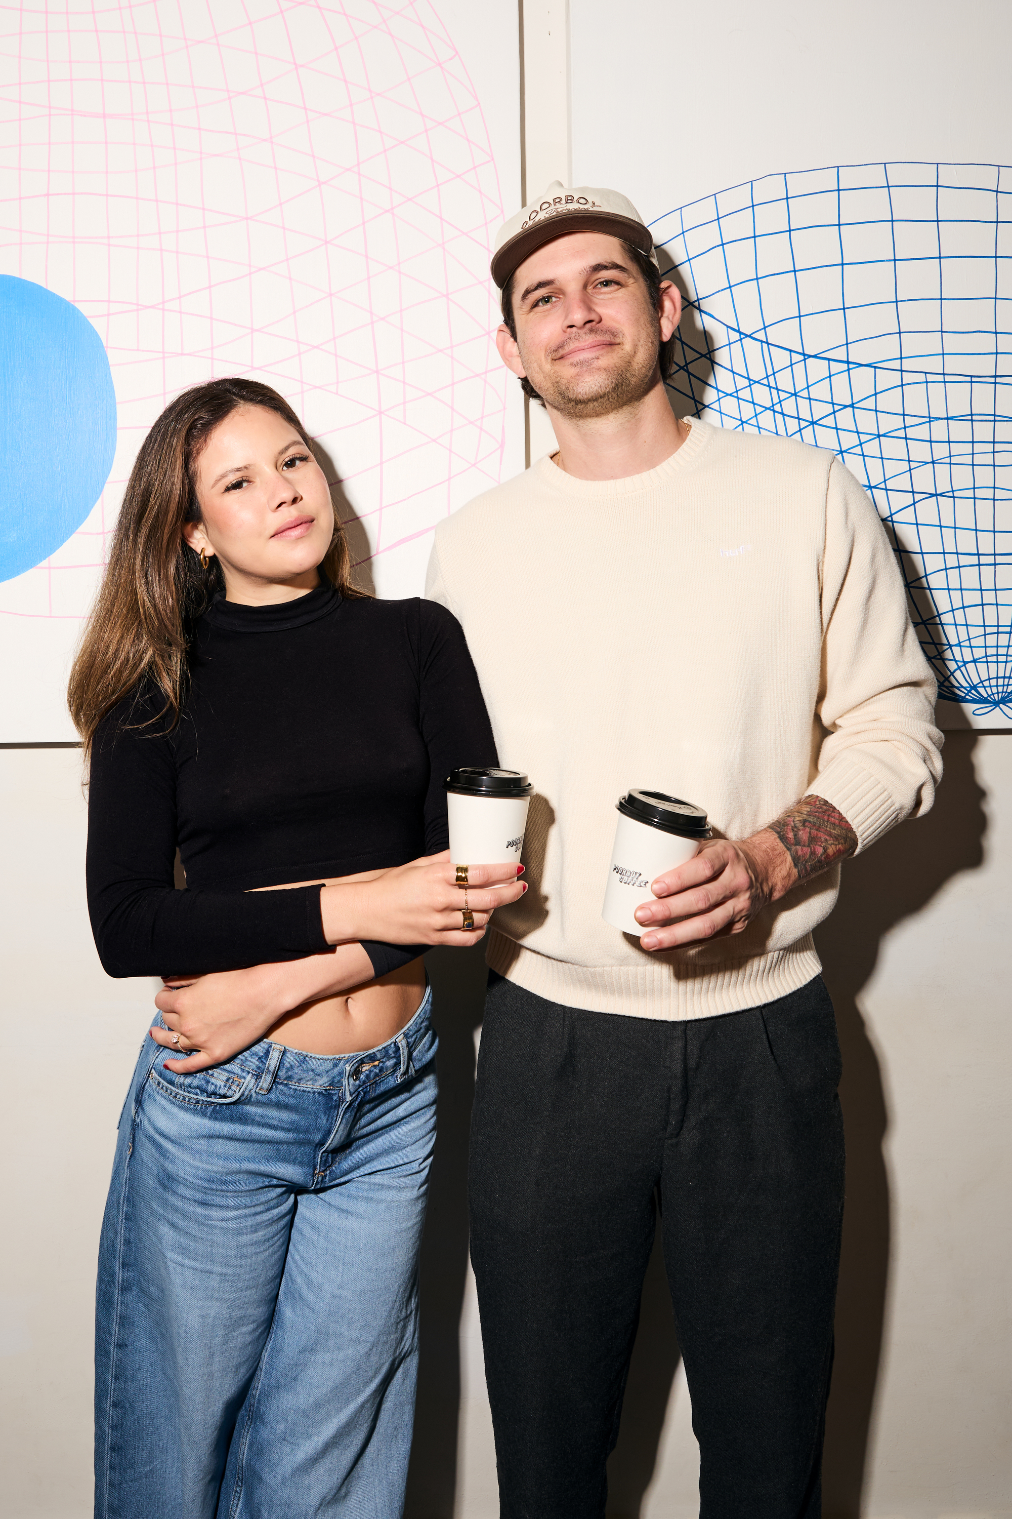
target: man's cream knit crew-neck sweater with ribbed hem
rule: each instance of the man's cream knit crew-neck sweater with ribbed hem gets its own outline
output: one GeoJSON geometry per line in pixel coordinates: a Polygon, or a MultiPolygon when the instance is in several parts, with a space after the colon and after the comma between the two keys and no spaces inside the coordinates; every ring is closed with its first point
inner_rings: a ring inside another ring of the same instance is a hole
{"type": "Polygon", "coordinates": [[[860,849],[932,805],[935,681],[878,515],[828,453],[693,421],[627,480],[542,459],[440,524],[426,594],[463,623],[499,763],[534,782],[531,889],[496,913],[489,965],[549,1001],[706,1018],[819,971],[839,867],[698,949],[602,922],[630,787],[730,838],[813,791],[860,849]]]}

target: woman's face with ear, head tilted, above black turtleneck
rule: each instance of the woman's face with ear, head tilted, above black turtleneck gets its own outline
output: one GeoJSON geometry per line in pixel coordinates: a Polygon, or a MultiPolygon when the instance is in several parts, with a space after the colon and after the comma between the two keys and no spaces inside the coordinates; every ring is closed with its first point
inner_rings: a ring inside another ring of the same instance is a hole
{"type": "Polygon", "coordinates": [[[334,507],[319,463],[284,416],[240,406],[197,459],[200,523],[184,538],[217,554],[229,600],[276,600],[319,585],[331,547],[334,507]]]}

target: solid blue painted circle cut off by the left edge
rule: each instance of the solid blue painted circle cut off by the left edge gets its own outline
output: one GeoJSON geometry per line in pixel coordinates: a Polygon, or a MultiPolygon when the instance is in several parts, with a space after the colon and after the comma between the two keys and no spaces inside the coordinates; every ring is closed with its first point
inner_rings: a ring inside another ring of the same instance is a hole
{"type": "Polygon", "coordinates": [[[0,580],[49,559],[102,495],[115,390],[76,305],[0,275],[0,580]]]}

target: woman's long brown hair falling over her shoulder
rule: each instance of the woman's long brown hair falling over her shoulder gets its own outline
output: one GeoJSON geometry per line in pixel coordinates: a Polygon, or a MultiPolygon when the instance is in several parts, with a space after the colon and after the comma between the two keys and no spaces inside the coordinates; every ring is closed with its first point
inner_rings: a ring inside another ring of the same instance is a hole
{"type": "MultiPolygon", "coordinates": [[[[187,644],[193,623],[225,588],[217,557],[205,571],[184,542],[184,523],[199,523],[196,465],[214,428],[240,406],[262,406],[313,448],[284,396],[256,380],[211,380],[176,396],[141,444],[112,535],[112,548],[74,667],[67,703],[85,761],[96,728],[147,676],[165,699],[161,717],[179,720],[187,644]]],[[[334,536],[320,570],[341,595],[361,597],[334,510],[334,536]]],[[[159,723],[161,728],[161,723],[159,723]]]]}

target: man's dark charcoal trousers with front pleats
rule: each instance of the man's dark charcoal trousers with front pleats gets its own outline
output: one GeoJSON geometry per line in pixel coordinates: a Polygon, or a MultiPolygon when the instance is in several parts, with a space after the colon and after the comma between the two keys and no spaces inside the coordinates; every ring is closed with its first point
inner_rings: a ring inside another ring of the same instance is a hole
{"type": "Polygon", "coordinates": [[[833,1004],[662,1022],[492,975],[472,1259],[502,1519],[601,1519],[660,1214],[701,1519],[818,1519],[844,1208],[833,1004]]]}

